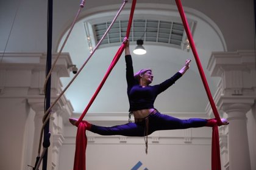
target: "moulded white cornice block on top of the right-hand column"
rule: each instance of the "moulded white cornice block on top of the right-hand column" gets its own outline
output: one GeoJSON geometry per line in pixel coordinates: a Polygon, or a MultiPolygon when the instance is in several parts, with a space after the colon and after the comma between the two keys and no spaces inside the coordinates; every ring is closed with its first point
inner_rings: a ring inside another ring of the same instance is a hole
{"type": "Polygon", "coordinates": [[[222,94],[255,97],[254,51],[213,52],[207,69],[212,77],[221,77],[222,94]]]}

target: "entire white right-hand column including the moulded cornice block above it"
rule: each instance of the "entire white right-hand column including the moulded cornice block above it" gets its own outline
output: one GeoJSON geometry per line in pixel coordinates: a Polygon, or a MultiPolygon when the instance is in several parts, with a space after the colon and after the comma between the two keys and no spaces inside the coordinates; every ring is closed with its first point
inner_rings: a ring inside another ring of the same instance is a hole
{"type": "MultiPolygon", "coordinates": [[[[224,163],[224,168],[251,170],[246,113],[251,110],[256,98],[254,52],[213,53],[208,70],[213,77],[221,77],[215,101],[230,123],[226,127],[229,160],[224,163]]],[[[224,143],[221,144],[224,146],[224,143]]]]}

